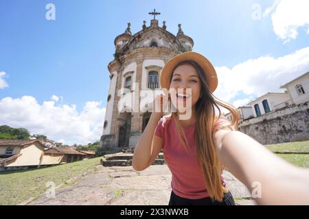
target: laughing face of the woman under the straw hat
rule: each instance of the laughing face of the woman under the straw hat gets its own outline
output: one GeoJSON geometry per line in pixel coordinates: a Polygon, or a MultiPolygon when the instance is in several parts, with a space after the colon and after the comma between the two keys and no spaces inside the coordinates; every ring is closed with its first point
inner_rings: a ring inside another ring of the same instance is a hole
{"type": "Polygon", "coordinates": [[[201,79],[194,66],[190,64],[178,66],[172,74],[170,88],[174,88],[176,92],[171,92],[172,101],[176,99],[180,105],[194,107],[201,94],[201,79]],[[181,94],[187,97],[183,98],[181,94]]]}

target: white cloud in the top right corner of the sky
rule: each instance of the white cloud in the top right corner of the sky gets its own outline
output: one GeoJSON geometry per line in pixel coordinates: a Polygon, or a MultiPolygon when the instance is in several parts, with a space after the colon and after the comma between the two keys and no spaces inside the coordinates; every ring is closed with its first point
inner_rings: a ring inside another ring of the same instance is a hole
{"type": "Polygon", "coordinates": [[[270,8],[265,10],[263,15],[267,16],[273,12],[271,14],[273,30],[286,43],[297,38],[299,27],[308,27],[308,8],[308,0],[281,0],[275,1],[270,8]]]}

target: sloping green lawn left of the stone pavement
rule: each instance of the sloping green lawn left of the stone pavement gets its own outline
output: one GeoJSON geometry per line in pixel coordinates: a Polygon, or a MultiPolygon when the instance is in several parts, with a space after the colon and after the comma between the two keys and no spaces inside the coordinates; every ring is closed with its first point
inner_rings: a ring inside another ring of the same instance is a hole
{"type": "Polygon", "coordinates": [[[29,198],[36,198],[47,191],[46,183],[49,181],[53,181],[58,187],[87,170],[95,171],[100,159],[101,157],[95,157],[47,168],[1,172],[0,205],[17,205],[29,198]]]}

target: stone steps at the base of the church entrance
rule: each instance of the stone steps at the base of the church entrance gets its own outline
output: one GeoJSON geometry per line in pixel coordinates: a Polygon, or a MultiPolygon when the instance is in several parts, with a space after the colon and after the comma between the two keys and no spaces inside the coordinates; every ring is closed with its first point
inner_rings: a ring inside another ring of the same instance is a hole
{"type": "MultiPolygon", "coordinates": [[[[123,152],[114,153],[109,155],[104,155],[101,159],[101,164],[103,166],[131,166],[133,158],[133,149],[124,149],[123,152]],[[132,152],[132,153],[130,153],[132,152]]],[[[163,153],[159,153],[155,162],[152,165],[162,165],[165,164],[163,153]]]]}

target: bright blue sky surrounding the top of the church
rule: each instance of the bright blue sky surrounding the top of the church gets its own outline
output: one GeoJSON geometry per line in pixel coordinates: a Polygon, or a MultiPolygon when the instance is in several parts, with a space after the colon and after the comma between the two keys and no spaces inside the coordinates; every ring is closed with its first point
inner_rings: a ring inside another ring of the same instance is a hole
{"type": "MultiPolygon", "coordinates": [[[[105,107],[113,41],[128,22],[133,34],[144,20],[149,25],[152,16],[148,12],[154,8],[161,12],[160,26],[166,21],[168,31],[176,35],[181,23],[195,42],[194,51],[203,53],[216,67],[231,70],[247,60],[277,59],[308,47],[308,23],[297,29],[297,38],[284,43],[274,31],[271,14],[252,18],[255,3],[264,12],[275,2],[0,1],[0,72],[5,72],[3,79],[8,84],[0,88],[0,100],[32,96],[43,104],[56,95],[63,97],[57,104],[76,105],[77,112],[88,101],[102,101],[100,107],[105,107]],[[56,21],[45,19],[47,3],[56,6],[56,21]]],[[[247,96],[240,90],[229,101],[247,96]]]]}

